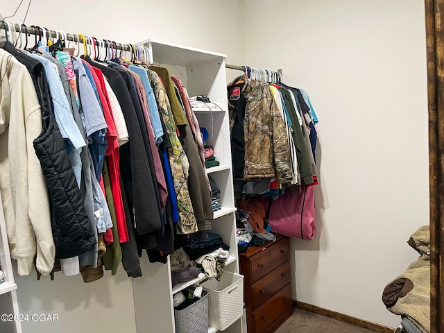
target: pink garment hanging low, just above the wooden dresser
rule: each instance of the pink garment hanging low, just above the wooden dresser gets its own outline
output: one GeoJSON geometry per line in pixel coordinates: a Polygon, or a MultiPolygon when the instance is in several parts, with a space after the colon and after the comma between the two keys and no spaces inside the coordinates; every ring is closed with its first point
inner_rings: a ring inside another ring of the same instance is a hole
{"type": "Polygon", "coordinates": [[[268,223],[271,232],[300,239],[313,239],[314,228],[314,186],[302,185],[301,193],[285,191],[283,196],[273,200],[262,198],[265,210],[270,210],[268,223]]]}

